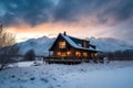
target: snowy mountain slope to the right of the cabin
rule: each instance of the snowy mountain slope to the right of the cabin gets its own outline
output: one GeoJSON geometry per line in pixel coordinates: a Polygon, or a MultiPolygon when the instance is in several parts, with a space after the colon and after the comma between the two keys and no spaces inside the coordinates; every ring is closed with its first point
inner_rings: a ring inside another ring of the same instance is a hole
{"type": "Polygon", "coordinates": [[[86,40],[90,40],[91,44],[96,45],[96,47],[103,52],[133,50],[133,46],[125,43],[124,41],[120,41],[111,37],[100,37],[100,38],[91,37],[86,40]]]}

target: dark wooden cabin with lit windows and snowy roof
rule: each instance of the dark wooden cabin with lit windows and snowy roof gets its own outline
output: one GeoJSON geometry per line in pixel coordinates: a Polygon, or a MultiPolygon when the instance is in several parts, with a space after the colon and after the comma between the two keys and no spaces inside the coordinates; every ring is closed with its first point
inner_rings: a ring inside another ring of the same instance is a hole
{"type": "Polygon", "coordinates": [[[80,61],[81,59],[95,59],[98,56],[96,46],[90,44],[90,41],[81,40],[60,33],[50,47],[49,52],[52,52],[52,61],[80,61]]]}

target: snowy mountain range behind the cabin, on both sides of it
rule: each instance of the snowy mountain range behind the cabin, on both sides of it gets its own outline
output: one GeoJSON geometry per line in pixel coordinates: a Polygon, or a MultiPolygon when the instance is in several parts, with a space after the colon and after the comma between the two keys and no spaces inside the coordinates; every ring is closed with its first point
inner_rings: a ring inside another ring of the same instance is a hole
{"type": "MultiPolygon", "coordinates": [[[[39,37],[39,38],[30,38],[25,42],[19,43],[19,53],[24,55],[28,51],[33,50],[35,55],[48,55],[48,50],[53,44],[55,38],[50,38],[47,36],[39,37]]],[[[133,50],[133,46],[126,44],[123,41],[115,40],[115,38],[86,38],[90,40],[91,44],[96,45],[98,50],[103,52],[115,52],[115,51],[125,51],[125,50],[133,50]]]]}

